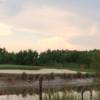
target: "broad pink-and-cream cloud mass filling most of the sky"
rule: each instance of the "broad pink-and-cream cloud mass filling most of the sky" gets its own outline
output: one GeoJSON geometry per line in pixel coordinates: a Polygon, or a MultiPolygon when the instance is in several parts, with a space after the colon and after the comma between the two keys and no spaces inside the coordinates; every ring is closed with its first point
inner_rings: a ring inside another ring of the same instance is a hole
{"type": "MultiPolygon", "coordinates": [[[[38,49],[39,51],[48,48],[83,49],[85,48],[84,40],[88,41],[88,38],[94,35],[96,39],[99,34],[100,25],[98,22],[73,10],[45,4],[40,7],[35,4],[33,6],[33,3],[28,1],[23,3],[21,0],[16,2],[16,0],[13,1],[15,8],[10,6],[12,0],[7,4],[8,12],[0,7],[0,35],[15,34],[15,40],[12,40],[12,43],[5,43],[7,47],[12,49],[17,50],[20,47],[38,49]],[[29,40],[26,37],[24,39],[26,33],[27,37],[31,33],[30,37],[39,36],[39,38],[30,38],[31,40],[29,40]],[[20,40],[22,41],[16,39],[16,36],[18,39],[21,36],[20,40]],[[81,41],[79,41],[80,39],[81,41]]],[[[91,45],[93,42],[86,43],[91,45]]]]}

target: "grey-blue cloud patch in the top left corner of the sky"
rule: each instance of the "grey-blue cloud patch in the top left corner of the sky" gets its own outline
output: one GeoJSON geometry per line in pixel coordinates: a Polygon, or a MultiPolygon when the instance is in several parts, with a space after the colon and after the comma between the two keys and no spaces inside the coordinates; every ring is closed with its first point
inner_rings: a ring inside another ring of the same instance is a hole
{"type": "Polygon", "coordinates": [[[6,16],[17,15],[22,9],[26,0],[2,0],[0,8],[4,10],[6,16]]]}

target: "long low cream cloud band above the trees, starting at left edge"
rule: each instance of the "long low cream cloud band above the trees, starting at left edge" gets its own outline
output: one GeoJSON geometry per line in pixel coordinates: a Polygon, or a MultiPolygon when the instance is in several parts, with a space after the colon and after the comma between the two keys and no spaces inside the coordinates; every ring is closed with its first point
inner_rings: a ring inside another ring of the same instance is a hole
{"type": "Polygon", "coordinates": [[[33,42],[31,40],[20,40],[19,41],[13,41],[13,42],[3,42],[2,47],[7,48],[9,51],[19,51],[19,50],[25,50],[25,49],[33,49],[37,50],[38,52],[45,51],[47,49],[75,49],[80,47],[78,45],[72,45],[70,44],[66,39],[63,39],[61,37],[50,37],[50,38],[44,38],[40,39],[37,42],[33,42]],[[10,44],[9,44],[10,43],[10,44]]]}

